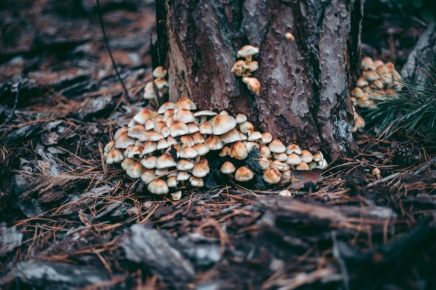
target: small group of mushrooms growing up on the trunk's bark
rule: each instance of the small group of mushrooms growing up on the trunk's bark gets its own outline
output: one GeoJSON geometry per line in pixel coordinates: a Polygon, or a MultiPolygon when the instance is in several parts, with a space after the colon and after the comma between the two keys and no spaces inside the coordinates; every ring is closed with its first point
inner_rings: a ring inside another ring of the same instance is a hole
{"type": "Polygon", "coordinates": [[[259,95],[260,83],[258,79],[251,76],[251,74],[259,67],[259,63],[253,61],[253,56],[258,53],[259,49],[257,47],[245,45],[237,53],[238,58],[244,58],[244,60],[240,59],[236,61],[231,69],[231,72],[234,72],[237,76],[242,76],[242,81],[247,83],[249,90],[256,95],[259,95]]]}

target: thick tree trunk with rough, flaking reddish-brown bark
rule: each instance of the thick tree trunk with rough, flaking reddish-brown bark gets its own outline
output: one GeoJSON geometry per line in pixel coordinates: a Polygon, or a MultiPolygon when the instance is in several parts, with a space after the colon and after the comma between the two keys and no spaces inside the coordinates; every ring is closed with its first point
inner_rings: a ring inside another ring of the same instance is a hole
{"type": "Polygon", "coordinates": [[[169,98],[244,113],[285,143],[335,160],[355,151],[350,73],[357,71],[362,0],[157,0],[169,98]],[[287,32],[295,41],[286,40],[287,32]],[[260,93],[231,72],[243,45],[259,47],[260,93]]]}

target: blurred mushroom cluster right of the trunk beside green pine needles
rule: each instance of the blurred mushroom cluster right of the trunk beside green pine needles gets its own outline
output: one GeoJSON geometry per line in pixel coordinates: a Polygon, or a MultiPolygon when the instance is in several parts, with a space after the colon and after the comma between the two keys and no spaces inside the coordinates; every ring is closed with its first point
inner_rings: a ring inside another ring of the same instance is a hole
{"type": "Polygon", "coordinates": [[[361,77],[350,92],[351,100],[354,106],[373,109],[377,107],[377,100],[396,97],[394,90],[402,87],[400,73],[393,63],[373,61],[366,56],[361,61],[361,77]]]}

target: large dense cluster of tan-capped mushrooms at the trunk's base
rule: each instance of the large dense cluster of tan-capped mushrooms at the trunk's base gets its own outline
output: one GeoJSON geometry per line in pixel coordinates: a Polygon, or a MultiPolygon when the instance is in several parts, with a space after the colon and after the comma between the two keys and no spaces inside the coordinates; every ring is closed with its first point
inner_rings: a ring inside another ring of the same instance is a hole
{"type": "Polygon", "coordinates": [[[291,169],[327,167],[321,152],[311,154],[295,144],[285,146],[271,134],[255,131],[242,114],[233,117],[226,111],[196,108],[192,100],[182,98],[176,104],[164,103],[158,111],[139,111],[104,147],[106,163],[121,163],[128,176],[147,184],[150,193],[171,193],[174,200],[180,198],[181,188],[204,185],[212,152],[228,160],[221,164],[220,171],[236,182],[254,178],[249,166],[241,166],[253,150],[258,152],[256,162],[267,184],[289,182],[291,169]],[[232,161],[239,161],[238,168],[232,161]]]}

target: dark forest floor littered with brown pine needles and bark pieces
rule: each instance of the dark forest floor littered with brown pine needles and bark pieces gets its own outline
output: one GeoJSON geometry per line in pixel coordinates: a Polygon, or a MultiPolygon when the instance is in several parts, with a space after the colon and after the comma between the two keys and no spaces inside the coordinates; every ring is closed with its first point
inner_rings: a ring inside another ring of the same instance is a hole
{"type": "MultiPolygon", "coordinates": [[[[359,153],[293,198],[232,184],[178,201],[137,194],[102,148],[145,105],[153,1],[101,1],[130,98],[93,1],[6,2],[0,289],[436,288],[435,143],[361,130],[359,153]]],[[[365,11],[362,54],[401,67],[426,25],[365,11]]]]}

